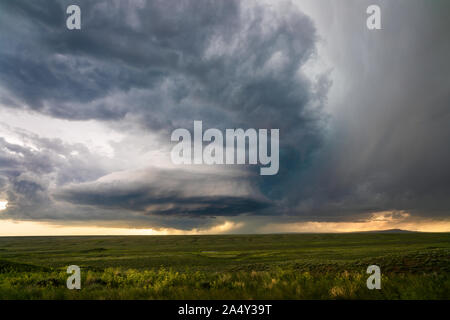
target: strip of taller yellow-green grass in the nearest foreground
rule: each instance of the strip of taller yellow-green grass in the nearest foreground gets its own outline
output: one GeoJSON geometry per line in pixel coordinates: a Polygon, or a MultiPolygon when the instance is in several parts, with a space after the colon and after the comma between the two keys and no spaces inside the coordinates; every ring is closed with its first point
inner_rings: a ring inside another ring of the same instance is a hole
{"type": "Polygon", "coordinates": [[[159,270],[88,271],[81,290],[66,288],[67,274],[0,274],[0,299],[449,299],[449,274],[382,276],[368,290],[362,272],[311,274],[294,269],[208,273],[159,270]]]}

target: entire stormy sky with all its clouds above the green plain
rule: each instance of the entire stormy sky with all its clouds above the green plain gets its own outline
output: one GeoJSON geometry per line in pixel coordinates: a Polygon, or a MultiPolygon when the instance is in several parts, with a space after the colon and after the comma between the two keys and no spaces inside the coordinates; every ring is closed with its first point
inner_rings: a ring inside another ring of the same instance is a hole
{"type": "Polygon", "coordinates": [[[0,236],[448,232],[449,15],[440,0],[1,1],[0,236]],[[195,120],[279,129],[278,174],[173,164],[171,133],[195,120]]]}

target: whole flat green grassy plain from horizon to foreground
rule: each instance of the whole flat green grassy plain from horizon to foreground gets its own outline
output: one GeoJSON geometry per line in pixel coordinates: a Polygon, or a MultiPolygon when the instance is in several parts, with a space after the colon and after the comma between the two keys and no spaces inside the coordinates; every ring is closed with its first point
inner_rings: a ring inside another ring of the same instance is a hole
{"type": "Polygon", "coordinates": [[[0,299],[450,299],[450,234],[0,237],[0,299]]]}

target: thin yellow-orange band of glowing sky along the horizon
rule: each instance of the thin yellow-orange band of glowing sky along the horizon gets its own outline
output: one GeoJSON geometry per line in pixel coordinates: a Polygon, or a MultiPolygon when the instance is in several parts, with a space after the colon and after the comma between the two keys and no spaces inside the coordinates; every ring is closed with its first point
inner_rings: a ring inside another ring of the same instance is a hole
{"type": "MultiPolygon", "coordinates": [[[[409,215],[392,217],[389,213],[374,214],[365,222],[301,222],[270,223],[255,228],[252,233],[284,233],[284,232],[357,232],[386,229],[404,229],[422,232],[450,232],[450,221],[408,221],[409,215]],[[406,220],[406,221],[405,221],[406,220]]],[[[251,222],[250,222],[251,224],[251,222]]],[[[133,229],[95,226],[55,225],[46,222],[0,220],[0,236],[63,236],[63,235],[201,235],[240,233],[243,223],[224,221],[222,224],[208,229],[179,230],[165,229],[133,229]]],[[[248,229],[247,229],[248,230],[248,229]]],[[[248,233],[248,232],[246,232],[248,233]]]]}

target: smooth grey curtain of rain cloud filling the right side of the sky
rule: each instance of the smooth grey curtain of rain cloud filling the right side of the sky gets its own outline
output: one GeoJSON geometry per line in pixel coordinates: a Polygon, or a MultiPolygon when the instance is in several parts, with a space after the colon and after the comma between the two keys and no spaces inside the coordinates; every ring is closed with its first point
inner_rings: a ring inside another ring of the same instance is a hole
{"type": "Polygon", "coordinates": [[[296,173],[305,183],[287,198],[305,219],[385,210],[448,218],[450,4],[376,1],[383,30],[371,32],[356,26],[373,1],[333,3],[329,39],[348,89],[334,101],[326,144],[296,173]]]}

